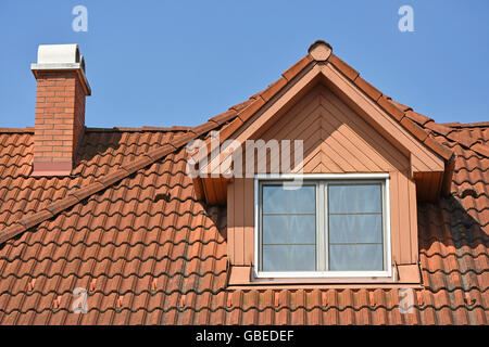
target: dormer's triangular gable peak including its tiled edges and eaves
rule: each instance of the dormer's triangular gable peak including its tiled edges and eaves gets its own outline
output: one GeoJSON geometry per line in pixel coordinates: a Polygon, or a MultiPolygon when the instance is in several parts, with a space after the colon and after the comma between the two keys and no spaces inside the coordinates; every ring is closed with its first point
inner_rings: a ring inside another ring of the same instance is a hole
{"type": "MultiPolygon", "coordinates": [[[[416,183],[421,201],[447,193],[451,181],[453,153],[336,57],[324,41],[313,43],[308,55],[253,95],[220,131],[220,154],[202,170],[213,175],[196,179],[208,203],[226,202],[229,179],[221,175],[220,165],[230,162],[230,140],[244,149],[248,140],[259,139],[303,140],[304,174],[403,172],[416,183]]],[[[268,163],[266,171],[272,169],[268,163]]]]}

